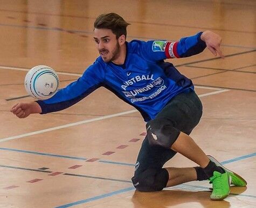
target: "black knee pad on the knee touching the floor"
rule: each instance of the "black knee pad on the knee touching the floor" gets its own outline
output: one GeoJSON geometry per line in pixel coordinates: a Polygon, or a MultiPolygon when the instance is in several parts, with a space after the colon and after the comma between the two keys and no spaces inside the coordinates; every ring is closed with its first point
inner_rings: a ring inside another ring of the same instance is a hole
{"type": "Polygon", "coordinates": [[[166,187],[169,179],[168,171],[162,169],[147,169],[134,176],[132,182],[139,191],[161,191],[166,187]]]}

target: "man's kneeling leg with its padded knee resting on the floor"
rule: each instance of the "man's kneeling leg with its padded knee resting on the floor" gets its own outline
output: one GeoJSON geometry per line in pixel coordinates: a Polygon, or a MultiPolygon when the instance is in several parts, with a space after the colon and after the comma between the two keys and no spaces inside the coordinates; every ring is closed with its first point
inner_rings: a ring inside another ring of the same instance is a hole
{"type": "Polygon", "coordinates": [[[207,179],[200,167],[162,168],[175,154],[176,152],[171,149],[150,145],[146,137],[137,157],[132,178],[135,188],[139,191],[161,191],[165,187],[207,179]]]}

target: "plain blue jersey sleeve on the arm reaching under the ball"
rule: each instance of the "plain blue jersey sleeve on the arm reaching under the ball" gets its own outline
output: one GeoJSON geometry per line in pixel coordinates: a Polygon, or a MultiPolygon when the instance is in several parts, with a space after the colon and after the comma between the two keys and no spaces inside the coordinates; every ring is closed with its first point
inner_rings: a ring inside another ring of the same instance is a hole
{"type": "Polygon", "coordinates": [[[52,98],[37,100],[42,109],[41,114],[56,112],[74,105],[101,87],[104,77],[103,69],[100,70],[96,65],[89,66],[82,77],[60,89],[52,98]]]}

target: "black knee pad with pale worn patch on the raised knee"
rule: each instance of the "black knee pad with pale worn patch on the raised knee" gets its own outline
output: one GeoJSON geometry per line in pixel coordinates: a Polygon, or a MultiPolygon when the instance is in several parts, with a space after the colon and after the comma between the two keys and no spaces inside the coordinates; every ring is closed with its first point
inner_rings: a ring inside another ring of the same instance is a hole
{"type": "Polygon", "coordinates": [[[154,119],[147,123],[147,137],[150,145],[160,145],[170,149],[177,140],[181,131],[176,129],[172,122],[163,119],[154,119]]]}

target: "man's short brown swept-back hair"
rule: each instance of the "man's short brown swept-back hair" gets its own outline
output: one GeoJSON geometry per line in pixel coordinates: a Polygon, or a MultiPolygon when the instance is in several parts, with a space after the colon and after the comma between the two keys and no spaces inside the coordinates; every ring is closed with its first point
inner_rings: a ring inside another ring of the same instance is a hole
{"type": "Polygon", "coordinates": [[[126,27],[130,25],[117,13],[106,13],[96,18],[94,28],[109,29],[116,35],[118,39],[122,34],[126,37],[126,27]]]}

